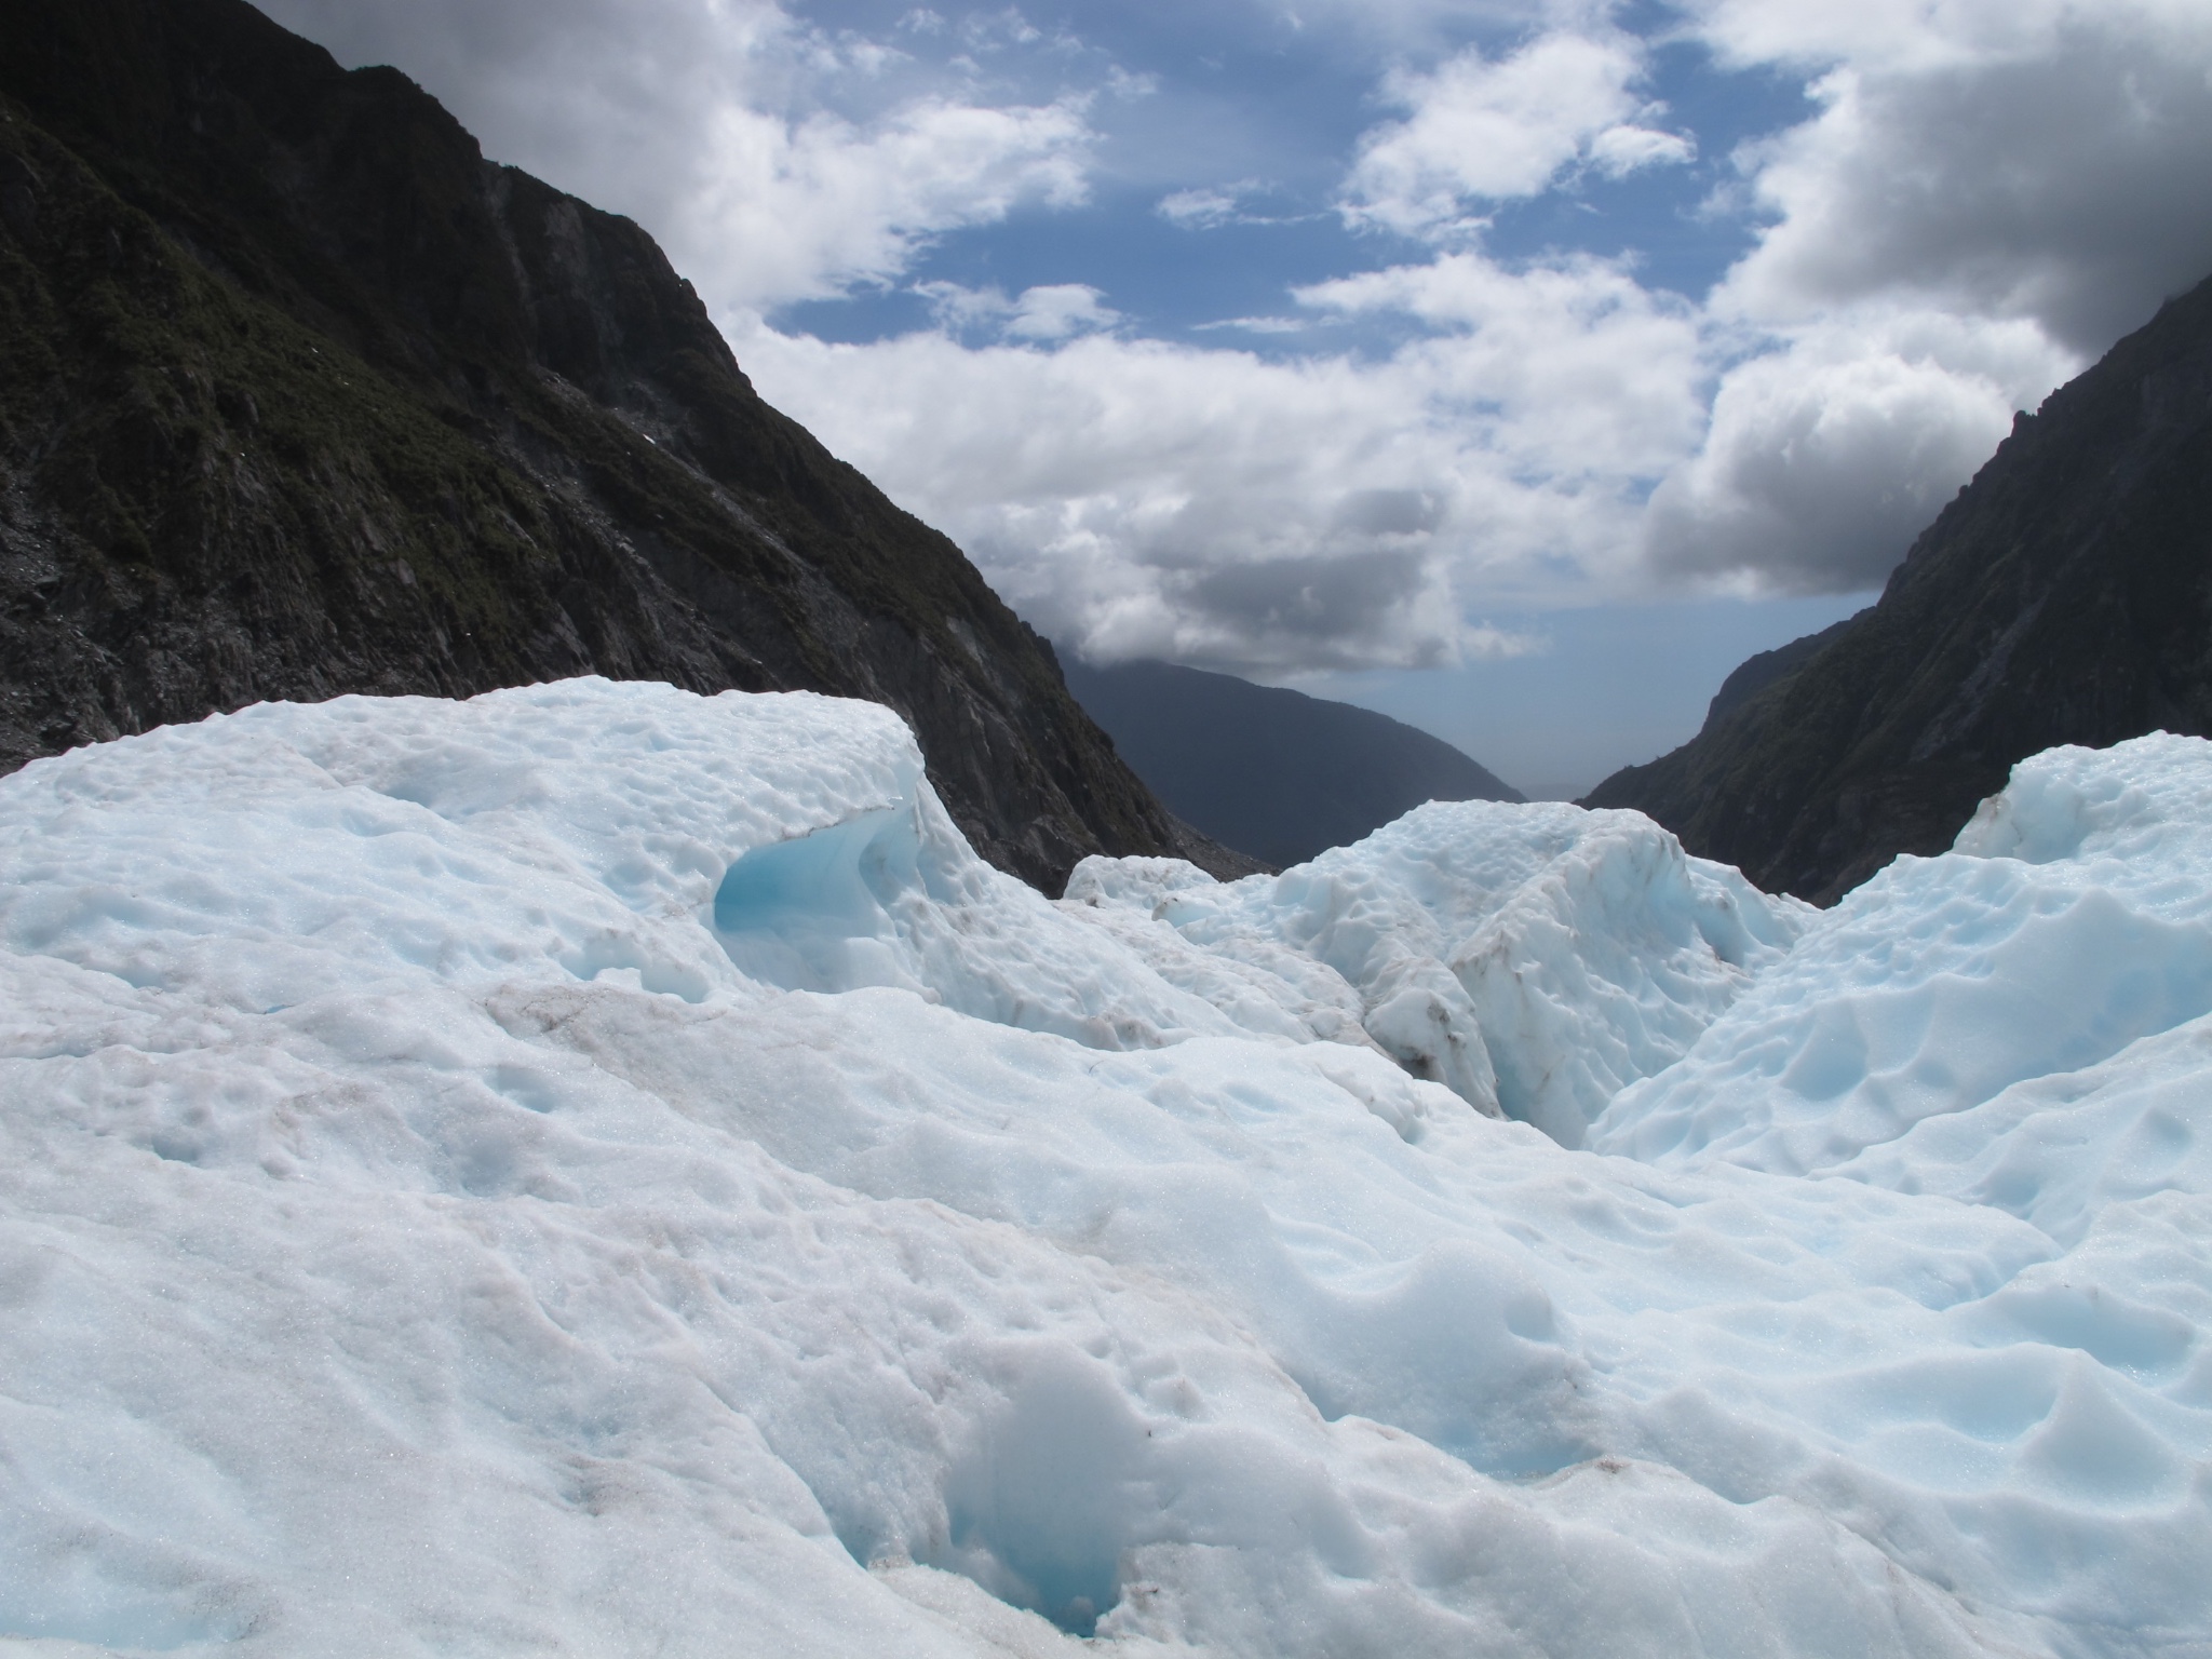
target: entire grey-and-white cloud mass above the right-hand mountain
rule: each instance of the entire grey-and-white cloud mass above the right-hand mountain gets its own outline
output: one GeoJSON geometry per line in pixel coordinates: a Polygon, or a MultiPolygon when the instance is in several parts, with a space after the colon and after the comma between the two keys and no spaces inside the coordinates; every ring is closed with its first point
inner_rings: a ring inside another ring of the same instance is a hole
{"type": "Polygon", "coordinates": [[[1699,453],[1659,573],[1876,586],[2004,436],[2212,272],[2212,13],[2163,0],[1714,0],[1818,113],[1739,164],[1767,226],[1708,301],[1699,453]],[[1745,345],[1750,343],[1750,345],[1745,345]]]}

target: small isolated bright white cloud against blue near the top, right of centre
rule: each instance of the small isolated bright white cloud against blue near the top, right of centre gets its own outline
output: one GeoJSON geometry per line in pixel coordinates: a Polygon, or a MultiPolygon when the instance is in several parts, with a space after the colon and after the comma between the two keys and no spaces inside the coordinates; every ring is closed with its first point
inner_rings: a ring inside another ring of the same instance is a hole
{"type": "Polygon", "coordinates": [[[1427,75],[1394,75],[1407,111],[1367,135],[1345,212],[1405,234],[1475,228],[1475,204],[1533,197],[1577,161],[1619,177],[1686,161],[1694,146],[1641,126],[1641,75],[1626,35],[1553,31],[1502,60],[1469,49],[1427,75]]]}

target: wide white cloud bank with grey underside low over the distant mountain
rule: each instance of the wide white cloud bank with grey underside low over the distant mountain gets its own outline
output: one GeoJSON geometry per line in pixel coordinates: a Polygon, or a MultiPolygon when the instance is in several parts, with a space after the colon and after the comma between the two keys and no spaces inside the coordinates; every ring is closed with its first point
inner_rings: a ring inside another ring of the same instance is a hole
{"type": "Polygon", "coordinates": [[[759,330],[761,389],[1097,659],[1436,666],[1469,617],[1632,580],[1641,491],[1701,429],[1697,323],[1617,263],[1480,254],[1301,290],[1418,314],[1385,358],[1091,334],[967,349],[759,330]]]}

